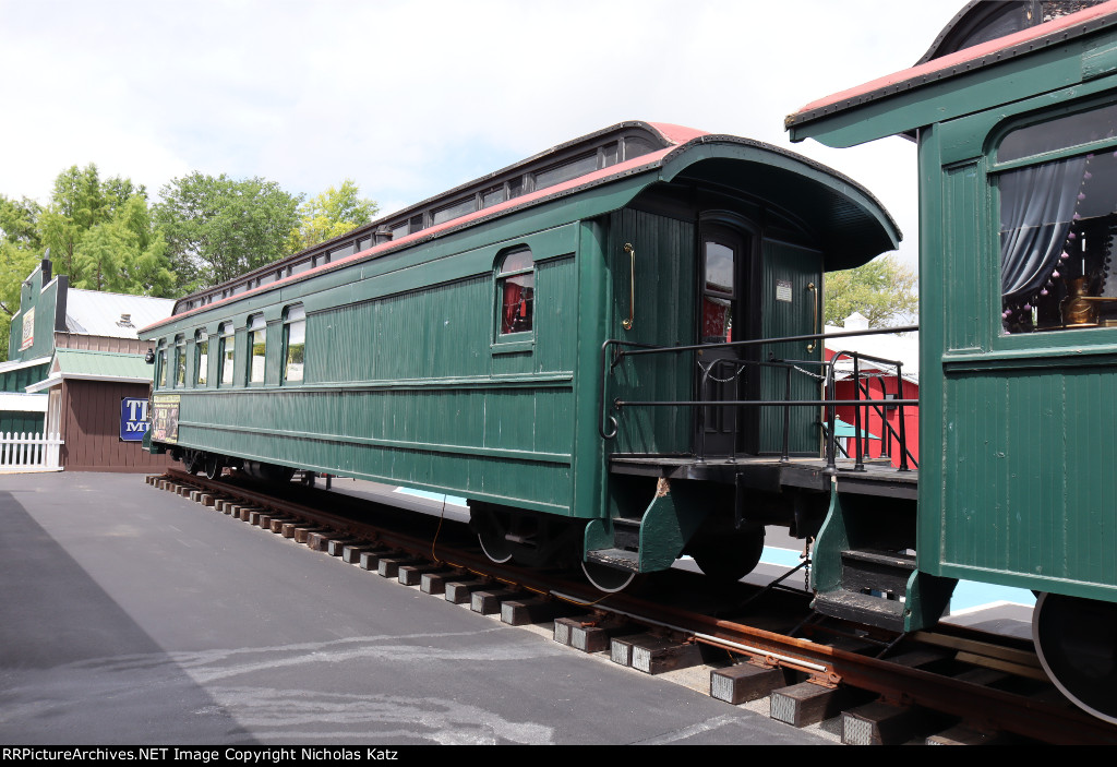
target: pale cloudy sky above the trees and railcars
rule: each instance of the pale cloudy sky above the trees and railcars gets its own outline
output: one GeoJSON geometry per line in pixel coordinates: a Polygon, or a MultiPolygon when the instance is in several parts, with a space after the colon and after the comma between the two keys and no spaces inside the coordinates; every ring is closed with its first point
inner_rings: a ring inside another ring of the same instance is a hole
{"type": "MultiPolygon", "coordinates": [[[[783,116],[914,64],[963,0],[0,0],[0,194],[96,163],[201,171],[384,213],[624,119],[792,147],[783,116]]],[[[917,238],[915,146],[792,148],[917,238]]]]}

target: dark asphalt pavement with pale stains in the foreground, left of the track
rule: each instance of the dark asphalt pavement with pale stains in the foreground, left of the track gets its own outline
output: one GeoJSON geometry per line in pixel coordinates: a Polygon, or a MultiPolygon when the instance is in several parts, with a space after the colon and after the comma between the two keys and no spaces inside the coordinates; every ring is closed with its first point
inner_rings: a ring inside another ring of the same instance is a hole
{"type": "Polygon", "coordinates": [[[161,492],[0,477],[0,742],[799,745],[161,492]]]}

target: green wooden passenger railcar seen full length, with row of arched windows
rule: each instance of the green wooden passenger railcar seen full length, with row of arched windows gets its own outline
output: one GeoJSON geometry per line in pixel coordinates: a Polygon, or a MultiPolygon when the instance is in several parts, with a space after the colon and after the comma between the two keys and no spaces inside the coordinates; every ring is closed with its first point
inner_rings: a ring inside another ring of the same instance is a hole
{"type": "MultiPolygon", "coordinates": [[[[614,518],[643,517],[622,569],[599,557],[599,583],[620,583],[669,566],[735,500],[732,485],[724,504],[677,488],[645,515],[665,496],[657,478],[614,474],[610,457],[689,456],[699,437],[712,456],[818,456],[820,432],[818,409],[800,408],[787,447],[767,412],[699,435],[679,406],[632,411],[605,440],[602,403],[688,401],[699,381],[693,353],[603,370],[603,344],[818,332],[823,271],[898,240],[868,192],[810,160],[623,123],[180,300],[144,330],[152,449],[210,473],[461,496],[495,559],[576,563],[611,548],[614,518]]],[[[782,396],[785,383],[763,371],[745,385],[782,396]]],[[[818,382],[794,394],[818,400],[818,382]]]]}

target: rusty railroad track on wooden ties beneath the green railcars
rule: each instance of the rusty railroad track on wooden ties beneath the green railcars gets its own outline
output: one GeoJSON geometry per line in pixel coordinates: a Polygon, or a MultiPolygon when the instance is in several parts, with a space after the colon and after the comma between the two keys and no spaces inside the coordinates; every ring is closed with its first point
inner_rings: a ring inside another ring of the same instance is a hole
{"type": "MultiPolygon", "coordinates": [[[[713,697],[751,707],[766,699],[772,718],[795,727],[840,716],[843,742],[1117,744],[1117,727],[1054,689],[1030,642],[947,625],[897,636],[820,624],[805,595],[772,596],[764,612],[729,617],[732,603],[697,611],[680,606],[693,598],[663,604],[666,578],[603,597],[561,574],[491,563],[465,526],[380,504],[304,490],[276,498],[176,470],[147,482],[424,593],[499,613],[510,625],[553,624],[555,641],[608,651],[645,673],[709,667],[713,697]],[[323,500],[333,510],[323,510],[323,500]]],[[[698,582],[693,574],[669,577],[675,591],[698,582]]]]}

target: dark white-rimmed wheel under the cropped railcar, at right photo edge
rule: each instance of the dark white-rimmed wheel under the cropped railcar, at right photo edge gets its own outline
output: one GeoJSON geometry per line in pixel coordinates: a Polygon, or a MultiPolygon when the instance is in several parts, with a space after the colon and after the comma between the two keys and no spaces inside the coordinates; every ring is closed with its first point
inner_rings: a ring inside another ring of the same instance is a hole
{"type": "Polygon", "coordinates": [[[1032,640],[1048,677],[1080,709],[1117,725],[1117,604],[1040,594],[1032,640]]]}

